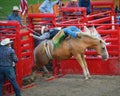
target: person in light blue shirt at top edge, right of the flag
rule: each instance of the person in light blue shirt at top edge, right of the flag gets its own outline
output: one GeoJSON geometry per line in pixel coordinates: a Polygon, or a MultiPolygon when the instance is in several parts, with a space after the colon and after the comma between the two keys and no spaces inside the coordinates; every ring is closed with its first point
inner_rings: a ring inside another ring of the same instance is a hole
{"type": "Polygon", "coordinates": [[[41,13],[51,13],[53,14],[53,6],[55,4],[59,3],[59,0],[55,0],[52,2],[52,0],[45,0],[39,7],[39,11],[41,13]]]}

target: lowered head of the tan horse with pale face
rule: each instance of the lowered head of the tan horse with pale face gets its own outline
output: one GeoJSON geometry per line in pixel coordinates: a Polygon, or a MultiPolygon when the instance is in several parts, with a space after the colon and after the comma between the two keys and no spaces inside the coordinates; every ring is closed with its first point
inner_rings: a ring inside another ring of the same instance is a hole
{"type": "Polygon", "coordinates": [[[103,60],[107,60],[109,58],[106,43],[103,40],[99,39],[94,48],[96,49],[97,53],[102,56],[103,60]]]}

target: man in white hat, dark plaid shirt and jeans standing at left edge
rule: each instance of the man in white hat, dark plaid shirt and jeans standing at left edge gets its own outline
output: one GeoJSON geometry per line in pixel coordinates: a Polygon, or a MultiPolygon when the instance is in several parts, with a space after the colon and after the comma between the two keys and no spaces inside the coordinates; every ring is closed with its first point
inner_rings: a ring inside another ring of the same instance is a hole
{"type": "Polygon", "coordinates": [[[22,96],[15,76],[14,62],[18,62],[18,58],[11,48],[12,42],[9,38],[0,42],[0,96],[3,96],[2,87],[5,79],[12,84],[16,96],[22,96]]]}

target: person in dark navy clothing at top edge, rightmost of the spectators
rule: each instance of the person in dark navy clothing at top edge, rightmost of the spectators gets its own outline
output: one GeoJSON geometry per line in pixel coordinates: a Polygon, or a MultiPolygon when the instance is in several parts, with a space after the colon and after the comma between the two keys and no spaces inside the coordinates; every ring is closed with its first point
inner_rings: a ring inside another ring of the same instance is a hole
{"type": "Polygon", "coordinates": [[[91,3],[90,0],[79,0],[78,1],[79,7],[86,7],[87,15],[91,13],[91,3]]]}

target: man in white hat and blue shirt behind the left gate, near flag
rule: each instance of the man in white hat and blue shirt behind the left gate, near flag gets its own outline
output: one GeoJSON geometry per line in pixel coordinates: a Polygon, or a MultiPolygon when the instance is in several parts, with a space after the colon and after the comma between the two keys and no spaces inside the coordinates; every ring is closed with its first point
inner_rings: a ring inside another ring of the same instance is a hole
{"type": "Polygon", "coordinates": [[[19,12],[20,12],[19,8],[17,6],[13,6],[12,13],[7,17],[7,20],[17,20],[22,26],[19,12]]]}

